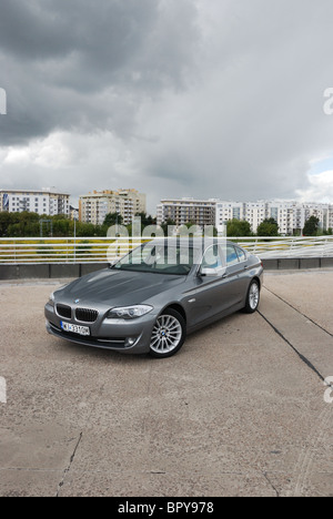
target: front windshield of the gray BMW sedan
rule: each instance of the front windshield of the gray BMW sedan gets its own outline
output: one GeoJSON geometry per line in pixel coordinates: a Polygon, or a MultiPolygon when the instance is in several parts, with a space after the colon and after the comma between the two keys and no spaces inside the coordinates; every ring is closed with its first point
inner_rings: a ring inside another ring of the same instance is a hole
{"type": "Polygon", "coordinates": [[[199,251],[170,244],[144,244],[122,257],[113,268],[154,274],[188,275],[199,251]]]}

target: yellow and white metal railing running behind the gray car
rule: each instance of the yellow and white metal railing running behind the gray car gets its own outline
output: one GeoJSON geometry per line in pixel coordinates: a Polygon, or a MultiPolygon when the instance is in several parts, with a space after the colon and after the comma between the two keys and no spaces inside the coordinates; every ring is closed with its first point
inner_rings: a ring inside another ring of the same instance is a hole
{"type": "MultiPolygon", "coordinates": [[[[231,237],[261,258],[333,257],[333,236],[231,237]]],[[[140,237],[0,238],[0,264],[99,263],[122,256],[140,237]]]]}

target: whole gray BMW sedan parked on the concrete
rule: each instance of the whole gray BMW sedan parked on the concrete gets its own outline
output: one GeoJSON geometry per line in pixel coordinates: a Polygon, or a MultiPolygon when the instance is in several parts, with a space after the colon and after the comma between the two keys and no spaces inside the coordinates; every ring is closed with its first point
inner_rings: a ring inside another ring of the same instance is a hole
{"type": "Polygon", "coordinates": [[[154,240],[51,294],[47,330],[99,348],[170,357],[188,334],[240,309],[255,312],[262,278],[260,258],[224,240],[154,240]]]}

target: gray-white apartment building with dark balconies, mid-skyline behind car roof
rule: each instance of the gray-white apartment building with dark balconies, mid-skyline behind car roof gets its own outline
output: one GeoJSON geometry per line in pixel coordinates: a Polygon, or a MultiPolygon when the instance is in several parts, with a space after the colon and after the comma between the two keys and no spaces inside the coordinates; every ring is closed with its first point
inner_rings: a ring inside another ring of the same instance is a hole
{"type": "Polygon", "coordinates": [[[215,225],[216,200],[165,199],[157,207],[157,223],[161,225],[172,220],[176,226],[193,223],[200,227],[215,225]]]}

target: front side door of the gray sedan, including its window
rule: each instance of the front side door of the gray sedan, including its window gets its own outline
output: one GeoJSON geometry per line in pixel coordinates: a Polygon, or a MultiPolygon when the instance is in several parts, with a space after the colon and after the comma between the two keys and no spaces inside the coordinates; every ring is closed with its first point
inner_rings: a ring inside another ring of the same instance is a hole
{"type": "Polygon", "coordinates": [[[203,255],[194,287],[186,294],[185,307],[191,327],[214,320],[229,308],[233,276],[225,274],[222,251],[219,245],[211,245],[203,255]]]}

